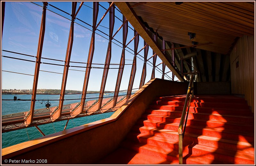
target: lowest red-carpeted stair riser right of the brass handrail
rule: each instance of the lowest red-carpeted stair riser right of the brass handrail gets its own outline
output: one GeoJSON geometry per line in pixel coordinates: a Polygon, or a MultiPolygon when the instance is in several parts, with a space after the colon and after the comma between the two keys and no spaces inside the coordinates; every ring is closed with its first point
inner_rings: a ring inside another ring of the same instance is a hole
{"type": "Polygon", "coordinates": [[[218,161],[230,162],[234,164],[254,164],[253,158],[252,160],[248,160],[240,157],[235,157],[235,154],[236,154],[235,151],[234,151],[234,154],[229,154],[229,155],[219,154],[215,152],[207,152],[207,151],[196,149],[196,148],[188,148],[188,151],[190,151],[190,153],[192,153],[193,155],[204,156],[206,158],[210,158],[218,161]],[[233,155],[233,156],[230,156],[230,155],[233,155]]]}

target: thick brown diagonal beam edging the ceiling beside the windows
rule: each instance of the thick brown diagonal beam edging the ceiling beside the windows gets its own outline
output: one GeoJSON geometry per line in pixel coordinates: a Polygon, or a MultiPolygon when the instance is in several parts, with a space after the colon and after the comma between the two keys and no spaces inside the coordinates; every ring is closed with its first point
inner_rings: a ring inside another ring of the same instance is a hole
{"type": "Polygon", "coordinates": [[[154,39],[150,36],[148,30],[145,28],[143,23],[140,21],[138,16],[135,14],[133,9],[130,8],[128,2],[115,2],[118,9],[122,12],[122,14],[127,18],[127,20],[131,23],[134,29],[140,34],[140,36],[144,39],[144,41],[151,47],[153,51],[156,52],[157,56],[162,59],[164,64],[177,76],[180,81],[185,81],[184,78],[180,75],[180,72],[172,65],[171,57],[164,54],[162,49],[156,44],[154,39]]]}

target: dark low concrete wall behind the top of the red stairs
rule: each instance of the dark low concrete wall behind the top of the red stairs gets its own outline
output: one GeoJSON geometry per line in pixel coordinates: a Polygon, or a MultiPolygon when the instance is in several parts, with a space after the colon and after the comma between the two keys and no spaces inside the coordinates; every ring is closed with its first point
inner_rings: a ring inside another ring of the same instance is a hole
{"type": "Polygon", "coordinates": [[[230,94],[230,82],[194,82],[195,94],[230,94]]]}

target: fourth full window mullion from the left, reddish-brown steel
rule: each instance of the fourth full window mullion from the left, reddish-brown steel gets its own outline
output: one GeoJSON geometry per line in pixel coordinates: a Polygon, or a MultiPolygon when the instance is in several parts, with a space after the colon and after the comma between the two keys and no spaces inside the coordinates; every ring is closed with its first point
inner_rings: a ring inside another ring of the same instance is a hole
{"type": "Polygon", "coordinates": [[[105,61],[105,66],[104,66],[104,71],[103,71],[103,76],[102,76],[102,81],[101,81],[101,86],[100,86],[98,110],[101,109],[103,94],[104,94],[107,77],[108,77],[108,69],[109,69],[110,60],[111,60],[111,45],[112,45],[114,24],[115,24],[115,5],[112,5],[109,10],[109,42],[108,42],[108,51],[107,51],[107,55],[106,55],[106,61],[105,61]]]}

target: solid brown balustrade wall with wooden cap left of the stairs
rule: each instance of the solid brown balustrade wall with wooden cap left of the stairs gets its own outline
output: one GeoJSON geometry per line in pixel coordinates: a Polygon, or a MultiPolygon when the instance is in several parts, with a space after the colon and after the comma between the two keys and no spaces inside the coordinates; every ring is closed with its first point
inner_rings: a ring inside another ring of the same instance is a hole
{"type": "Polygon", "coordinates": [[[4,148],[2,163],[47,159],[47,164],[93,164],[119,146],[152,100],[186,94],[187,89],[187,82],[150,80],[110,118],[4,148]]]}

